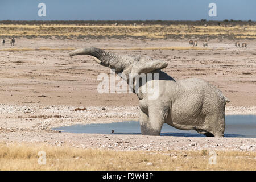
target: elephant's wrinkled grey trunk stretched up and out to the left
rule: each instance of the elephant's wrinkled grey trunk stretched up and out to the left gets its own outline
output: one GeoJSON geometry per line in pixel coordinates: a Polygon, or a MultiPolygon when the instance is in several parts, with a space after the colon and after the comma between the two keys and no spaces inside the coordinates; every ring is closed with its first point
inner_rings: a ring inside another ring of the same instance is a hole
{"type": "Polygon", "coordinates": [[[109,53],[98,49],[96,47],[88,47],[77,49],[69,53],[69,56],[75,55],[90,55],[96,57],[98,60],[101,61],[100,64],[104,65],[105,67],[115,68],[116,72],[120,72],[124,69],[124,64],[121,55],[115,55],[113,53],[109,53]]]}

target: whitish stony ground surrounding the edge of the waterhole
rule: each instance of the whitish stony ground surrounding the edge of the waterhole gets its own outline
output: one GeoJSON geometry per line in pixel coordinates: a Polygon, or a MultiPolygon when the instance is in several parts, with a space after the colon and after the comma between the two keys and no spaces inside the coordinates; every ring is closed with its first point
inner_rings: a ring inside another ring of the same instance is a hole
{"type": "MultiPolygon", "coordinates": [[[[256,138],[197,138],[115,134],[59,133],[52,127],[86,123],[109,123],[138,120],[138,106],[91,106],[72,111],[64,105],[0,105],[0,138],[2,142],[46,142],[82,148],[111,150],[247,150],[255,151],[256,138]]],[[[83,107],[79,107],[83,108],[83,107]]],[[[226,114],[256,114],[256,106],[226,107],[226,114]]]]}

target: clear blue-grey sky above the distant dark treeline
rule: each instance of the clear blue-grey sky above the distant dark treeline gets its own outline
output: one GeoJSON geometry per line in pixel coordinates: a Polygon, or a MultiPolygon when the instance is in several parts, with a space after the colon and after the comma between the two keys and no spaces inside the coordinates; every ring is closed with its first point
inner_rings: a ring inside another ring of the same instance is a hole
{"type": "Polygon", "coordinates": [[[255,0],[0,0],[0,20],[256,20],[255,0]],[[39,3],[46,16],[38,16],[39,3]],[[216,16],[209,16],[210,3],[216,16]]]}

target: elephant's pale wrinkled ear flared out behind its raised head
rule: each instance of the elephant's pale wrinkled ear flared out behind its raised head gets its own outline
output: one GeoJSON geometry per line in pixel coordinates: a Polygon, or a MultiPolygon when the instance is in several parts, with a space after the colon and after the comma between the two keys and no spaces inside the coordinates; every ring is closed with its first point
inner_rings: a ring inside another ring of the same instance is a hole
{"type": "Polygon", "coordinates": [[[145,63],[134,63],[133,67],[131,68],[131,75],[140,75],[141,73],[150,73],[156,69],[163,69],[167,67],[167,63],[162,60],[149,60],[145,63]]]}

